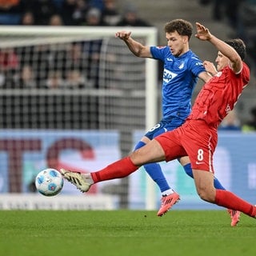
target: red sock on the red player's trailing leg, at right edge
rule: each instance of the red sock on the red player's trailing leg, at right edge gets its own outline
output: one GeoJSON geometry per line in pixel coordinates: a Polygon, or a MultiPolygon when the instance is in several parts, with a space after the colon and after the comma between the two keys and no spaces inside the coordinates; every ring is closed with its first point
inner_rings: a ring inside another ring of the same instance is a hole
{"type": "Polygon", "coordinates": [[[216,190],[215,203],[227,209],[239,210],[250,217],[256,216],[255,206],[242,200],[242,198],[238,198],[238,196],[227,190],[216,190]]]}

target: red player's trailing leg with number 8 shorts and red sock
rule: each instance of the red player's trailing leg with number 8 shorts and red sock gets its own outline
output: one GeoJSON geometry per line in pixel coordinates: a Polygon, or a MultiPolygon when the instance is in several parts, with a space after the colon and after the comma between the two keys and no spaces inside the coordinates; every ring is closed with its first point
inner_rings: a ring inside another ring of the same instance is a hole
{"type": "Polygon", "coordinates": [[[194,176],[194,183],[198,195],[206,202],[212,202],[218,206],[231,210],[238,210],[250,217],[256,216],[256,206],[238,198],[228,190],[216,190],[214,188],[213,155],[217,146],[218,135],[216,130],[209,130],[204,122],[191,122],[192,129],[183,129],[184,146],[190,157],[194,176]],[[198,132],[200,131],[200,132],[198,132]],[[193,138],[193,140],[189,140],[193,138]]]}

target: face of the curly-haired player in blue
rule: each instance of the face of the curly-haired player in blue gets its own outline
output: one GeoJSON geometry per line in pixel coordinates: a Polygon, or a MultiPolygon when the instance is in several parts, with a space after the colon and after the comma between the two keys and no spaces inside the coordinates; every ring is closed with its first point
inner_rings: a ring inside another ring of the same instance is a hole
{"type": "Polygon", "coordinates": [[[177,31],[166,33],[166,40],[171,53],[176,57],[188,50],[188,37],[178,34],[177,31]]]}

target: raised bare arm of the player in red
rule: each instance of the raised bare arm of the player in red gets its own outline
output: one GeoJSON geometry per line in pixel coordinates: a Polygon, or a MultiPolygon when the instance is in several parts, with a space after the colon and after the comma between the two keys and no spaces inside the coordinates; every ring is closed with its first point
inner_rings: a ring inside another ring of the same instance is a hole
{"type": "Polygon", "coordinates": [[[238,73],[242,69],[242,59],[236,50],[226,44],[226,42],[211,34],[210,30],[201,23],[196,22],[196,27],[197,34],[195,34],[195,37],[202,41],[211,42],[222,54],[230,59],[230,66],[232,67],[232,70],[234,70],[234,73],[238,73]]]}

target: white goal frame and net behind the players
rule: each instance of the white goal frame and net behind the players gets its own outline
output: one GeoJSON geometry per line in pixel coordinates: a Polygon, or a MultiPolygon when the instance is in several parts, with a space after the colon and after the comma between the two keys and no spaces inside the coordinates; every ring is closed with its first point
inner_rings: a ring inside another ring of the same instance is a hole
{"type": "MultiPolygon", "coordinates": [[[[34,176],[46,167],[98,170],[157,122],[157,63],[114,38],[121,29],[0,27],[1,193],[34,191],[34,176]]],[[[155,28],[129,30],[157,44],[155,28]]],[[[129,178],[104,184],[91,193],[118,195],[129,206],[129,178]]],[[[146,208],[153,209],[150,184],[146,208]]]]}

